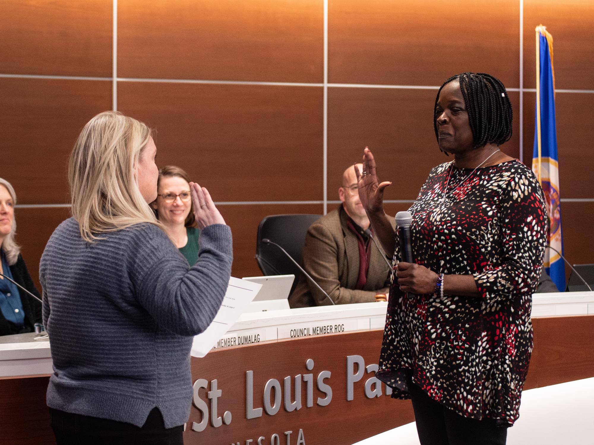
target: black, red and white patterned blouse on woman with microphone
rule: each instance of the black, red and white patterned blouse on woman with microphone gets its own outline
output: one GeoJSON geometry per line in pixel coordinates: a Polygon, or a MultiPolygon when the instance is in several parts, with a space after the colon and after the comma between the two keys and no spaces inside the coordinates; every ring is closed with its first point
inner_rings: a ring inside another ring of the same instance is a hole
{"type": "MultiPolygon", "coordinates": [[[[545,201],[518,160],[471,173],[453,162],[431,170],[409,209],[412,249],[416,263],[438,274],[473,275],[481,296],[407,295],[394,279],[377,377],[392,397],[407,399],[408,373],[447,408],[507,426],[518,417],[532,352],[545,201]]],[[[399,250],[396,239],[395,262],[399,250]]]]}

